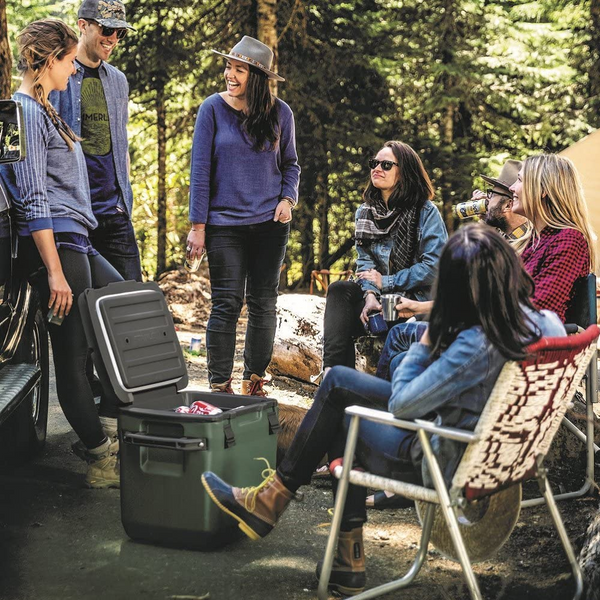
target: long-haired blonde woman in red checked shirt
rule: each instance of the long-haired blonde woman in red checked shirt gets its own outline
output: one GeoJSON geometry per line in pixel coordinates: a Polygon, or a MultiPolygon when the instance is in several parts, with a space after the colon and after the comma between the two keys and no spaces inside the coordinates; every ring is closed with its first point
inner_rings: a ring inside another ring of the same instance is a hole
{"type": "Polygon", "coordinates": [[[575,282],[596,269],[596,236],[573,163],[555,154],[525,160],[510,187],[513,212],[533,227],[515,248],[535,282],[533,303],[565,321],[575,282]]]}

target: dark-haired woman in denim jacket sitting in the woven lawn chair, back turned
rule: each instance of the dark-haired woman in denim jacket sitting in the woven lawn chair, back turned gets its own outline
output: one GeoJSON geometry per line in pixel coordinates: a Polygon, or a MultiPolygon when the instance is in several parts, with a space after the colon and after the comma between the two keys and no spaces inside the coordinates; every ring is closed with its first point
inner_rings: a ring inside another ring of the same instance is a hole
{"type": "MultiPolygon", "coordinates": [[[[434,412],[438,425],[472,430],[504,364],[524,358],[525,346],[540,336],[565,335],[554,313],[535,310],[529,300],[531,278],[514,250],[490,227],[468,225],[454,234],[442,252],[439,273],[429,328],[412,345],[391,383],[337,366],[323,381],[277,471],[269,471],[260,486],[234,488],[204,473],[212,500],[250,538],[273,529],[296,490],[310,483],[324,454],[331,459],[343,455],[347,406],[386,404],[403,419],[434,412]]],[[[432,436],[432,445],[450,480],[464,445],[437,436],[432,436]]],[[[421,459],[414,432],[362,423],[356,458],[379,475],[403,480],[421,475],[420,468],[414,469],[421,459]]],[[[427,473],[423,475],[427,480],[427,473]]],[[[365,495],[365,488],[350,486],[331,573],[330,586],[346,595],[365,587],[365,495]]]]}

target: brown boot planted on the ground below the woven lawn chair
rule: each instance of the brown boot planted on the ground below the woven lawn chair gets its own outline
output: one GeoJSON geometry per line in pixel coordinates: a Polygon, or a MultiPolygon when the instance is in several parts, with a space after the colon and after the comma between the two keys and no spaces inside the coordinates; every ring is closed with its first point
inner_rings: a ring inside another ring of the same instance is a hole
{"type": "MultiPolygon", "coordinates": [[[[322,570],[323,561],[320,560],[317,563],[317,579],[321,578],[322,570]]],[[[340,531],[328,587],[343,596],[356,596],[365,589],[366,583],[362,527],[340,531]]]]}

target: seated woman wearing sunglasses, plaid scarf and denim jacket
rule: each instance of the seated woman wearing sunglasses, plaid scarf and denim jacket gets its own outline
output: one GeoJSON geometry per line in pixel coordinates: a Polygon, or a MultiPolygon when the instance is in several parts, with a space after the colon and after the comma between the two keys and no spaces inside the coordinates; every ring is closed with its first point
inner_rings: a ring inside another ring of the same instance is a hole
{"type": "Polygon", "coordinates": [[[364,334],[380,295],[400,292],[429,298],[444,242],[444,221],[431,202],[433,186],[418,154],[386,142],[369,161],[371,180],[356,212],[358,281],[329,287],[325,305],[323,372],[354,367],[354,338],[364,334]]]}

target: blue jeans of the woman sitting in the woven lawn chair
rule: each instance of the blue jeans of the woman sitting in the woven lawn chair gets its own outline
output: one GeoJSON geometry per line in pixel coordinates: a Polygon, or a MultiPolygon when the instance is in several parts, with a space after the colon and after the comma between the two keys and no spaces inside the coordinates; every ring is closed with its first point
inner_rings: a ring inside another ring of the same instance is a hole
{"type": "MultiPolygon", "coordinates": [[[[387,410],[391,393],[388,381],[349,367],[333,367],[277,469],[285,486],[295,492],[301,485],[310,483],[313,471],[325,454],[330,461],[343,456],[349,424],[344,410],[348,406],[359,404],[387,410]]],[[[365,421],[359,430],[356,460],[377,475],[418,481],[411,461],[415,439],[414,432],[365,421]]],[[[336,489],[334,485],[334,495],[336,489]]],[[[366,488],[350,486],[343,527],[355,527],[367,520],[366,493],[366,488]]]]}

